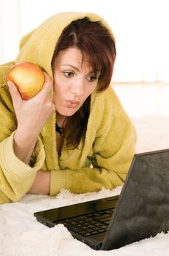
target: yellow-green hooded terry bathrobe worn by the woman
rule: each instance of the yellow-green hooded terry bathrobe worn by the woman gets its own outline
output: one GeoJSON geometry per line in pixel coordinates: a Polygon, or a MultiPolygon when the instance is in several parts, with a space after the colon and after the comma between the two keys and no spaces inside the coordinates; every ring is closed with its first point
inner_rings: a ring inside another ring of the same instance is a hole
{"type": "Polygon", "coordinates": [[[98,15],[62,12],[23,37],[17,59],[0,66],[0,203],[23,197],[38,170],[50,172],[52,196],[62,188],[75,193],[98,191],[103,187],[113,189],[125,180],[135,151],[135,128],[111,86],[104,92],[92,94],[87,132],[78,148],[67,149],[65,140],[58,156],[54,113],[39,134],[31,166],[20,161],[13,149],[17,119],[7,88],[7,72],[15,63],[31,61],[53,79],[51,60],[60,33],[72,20],[86,16],[100,21],[111,31],[98,15]]]}

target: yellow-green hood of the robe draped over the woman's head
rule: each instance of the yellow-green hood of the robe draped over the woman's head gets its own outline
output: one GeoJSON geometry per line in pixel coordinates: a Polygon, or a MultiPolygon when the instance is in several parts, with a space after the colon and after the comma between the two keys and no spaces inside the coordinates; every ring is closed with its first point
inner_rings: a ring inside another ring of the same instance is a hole
{"type": "Polygon", "coordinates": [[[33,62],[53,79],[51,63],[58,39],[66,26],[72,21],[82,18],[101,23],[102,26],[108,29],[112,39],[114,39],[109,25],[100,16],[88,12],[60,12],[45,20],[38,28],[21,39],[20,53],[15,59],[15,63],[21,61],[33,62]]]}

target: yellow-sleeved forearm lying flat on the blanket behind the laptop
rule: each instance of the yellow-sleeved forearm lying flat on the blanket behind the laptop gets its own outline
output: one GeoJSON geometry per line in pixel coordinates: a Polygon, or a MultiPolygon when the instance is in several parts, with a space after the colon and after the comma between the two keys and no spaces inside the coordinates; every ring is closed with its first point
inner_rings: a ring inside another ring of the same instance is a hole
{"type": "Polygon", "coordinates": [[[63,188],[77,194],[99,191],[103,187],[114,189],[123,184],[126,173],[125,170],[120,173],[99,167],[80,170],[52,170],[50,195],[57,195],[63,188]]]}

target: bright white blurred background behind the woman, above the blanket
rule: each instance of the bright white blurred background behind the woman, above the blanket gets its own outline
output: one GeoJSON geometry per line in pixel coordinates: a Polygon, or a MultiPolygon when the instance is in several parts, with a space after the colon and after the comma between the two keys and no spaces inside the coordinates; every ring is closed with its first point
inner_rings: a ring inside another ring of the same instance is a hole
{"type": "Polygon", "coordinates": [[[112,81],[130,116],[169,116],[168,0],[0,0],[0,64],[15,59],[23,35],[63,11],[95,12],[111,26],[112,81]]]}

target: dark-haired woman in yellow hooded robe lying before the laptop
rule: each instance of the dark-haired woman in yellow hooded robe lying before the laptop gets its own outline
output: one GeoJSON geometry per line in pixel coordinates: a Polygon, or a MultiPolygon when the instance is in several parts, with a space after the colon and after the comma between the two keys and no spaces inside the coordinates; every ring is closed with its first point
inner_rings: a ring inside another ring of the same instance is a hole
{"type": "Polygon", "coordinates": [[[111,86],[116,48],[98,15],[62,12],[20,42],[1,66],[0,202],[27,193],[83,193],[121,185],[135,150],[135,129],[111,86]],[[24,101],[9,69],[30,61],[45,83],[24,101]]]}

